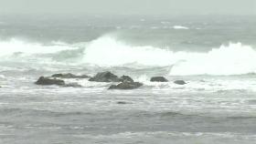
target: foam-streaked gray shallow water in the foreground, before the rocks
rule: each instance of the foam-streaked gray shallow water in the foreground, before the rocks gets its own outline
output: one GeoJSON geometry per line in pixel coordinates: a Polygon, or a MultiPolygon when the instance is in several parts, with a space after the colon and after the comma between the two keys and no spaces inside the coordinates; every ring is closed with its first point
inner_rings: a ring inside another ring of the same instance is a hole
{"type": "MultiPolygon", "coordinates": [[[[80,82],[84,87],[72,88],[14,79],[13,86],[10,79],[1,81],[2,143],[253,143],[256,139],[256,92],[247,88],[255,82],[237,89],[216,82],[218,78],[203,84],[187,78],[185,86],[144,82],[144,87],[122,91],[107,90],[106,83],[91,87],[87,80],[80,82]]],[[[233,79],[224,81],[235,84],[233,79]]]]}

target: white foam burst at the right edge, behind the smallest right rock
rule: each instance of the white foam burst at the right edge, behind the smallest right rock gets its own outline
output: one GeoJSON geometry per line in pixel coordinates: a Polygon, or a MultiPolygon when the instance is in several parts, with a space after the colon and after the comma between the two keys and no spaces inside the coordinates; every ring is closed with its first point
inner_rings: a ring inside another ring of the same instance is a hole
{"type": "Polygon", "coordinates": [[[220,46],[208,53],[182,52],[177,58],[183,61],[176,63],[170,75],[241,75],[256,72],[255,49],[240,43],[220,46]]]}

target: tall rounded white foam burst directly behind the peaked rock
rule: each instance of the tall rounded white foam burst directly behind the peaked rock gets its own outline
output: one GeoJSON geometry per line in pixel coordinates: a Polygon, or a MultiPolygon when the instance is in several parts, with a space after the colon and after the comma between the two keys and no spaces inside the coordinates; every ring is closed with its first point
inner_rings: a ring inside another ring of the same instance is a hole
{"type": "Polygon", "coordinates": [[[168,66],[172,52],[154,46],[129,46],[110,36],[91,42],[84,51],[84,62],[98,66],[123,66],[141,64],[145,66],[168,66]]]}

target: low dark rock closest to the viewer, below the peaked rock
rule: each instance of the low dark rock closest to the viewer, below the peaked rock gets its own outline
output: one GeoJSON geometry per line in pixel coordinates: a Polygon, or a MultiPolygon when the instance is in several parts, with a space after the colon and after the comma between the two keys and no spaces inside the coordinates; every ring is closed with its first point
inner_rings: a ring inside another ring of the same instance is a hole
{"type": "Polygon", "coordinates": [[[143,84],[139,82],[122,82],[118,85],[112,85],[109,89],[135,89],[141,86],[143,84]]]}

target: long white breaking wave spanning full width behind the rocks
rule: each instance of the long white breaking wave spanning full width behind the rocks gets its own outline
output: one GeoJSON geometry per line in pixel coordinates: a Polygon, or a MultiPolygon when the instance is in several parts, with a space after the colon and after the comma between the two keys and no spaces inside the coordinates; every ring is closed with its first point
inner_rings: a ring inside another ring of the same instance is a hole
{"type": "Polygon", "coordinates": [[[205,53],[174,52],[170,49],[170,47],[131,46],[112,36],[102,36],[89,43],[76,45],[53,43],[45,46],[16,39],[0,41],[0,57],[5,58],[22,54],[23,58],[37,55],[34,58],[39,60],[42,58],[40,55],[51,54],[48,58],[59,62],[76,57],[72,65],[77,63],[100,67],[130,67],[133,65],[170,67],[170,75],[177,76],[242,75],[256,72],[256,50],[240,43],[212,48],[205,53]]]}

